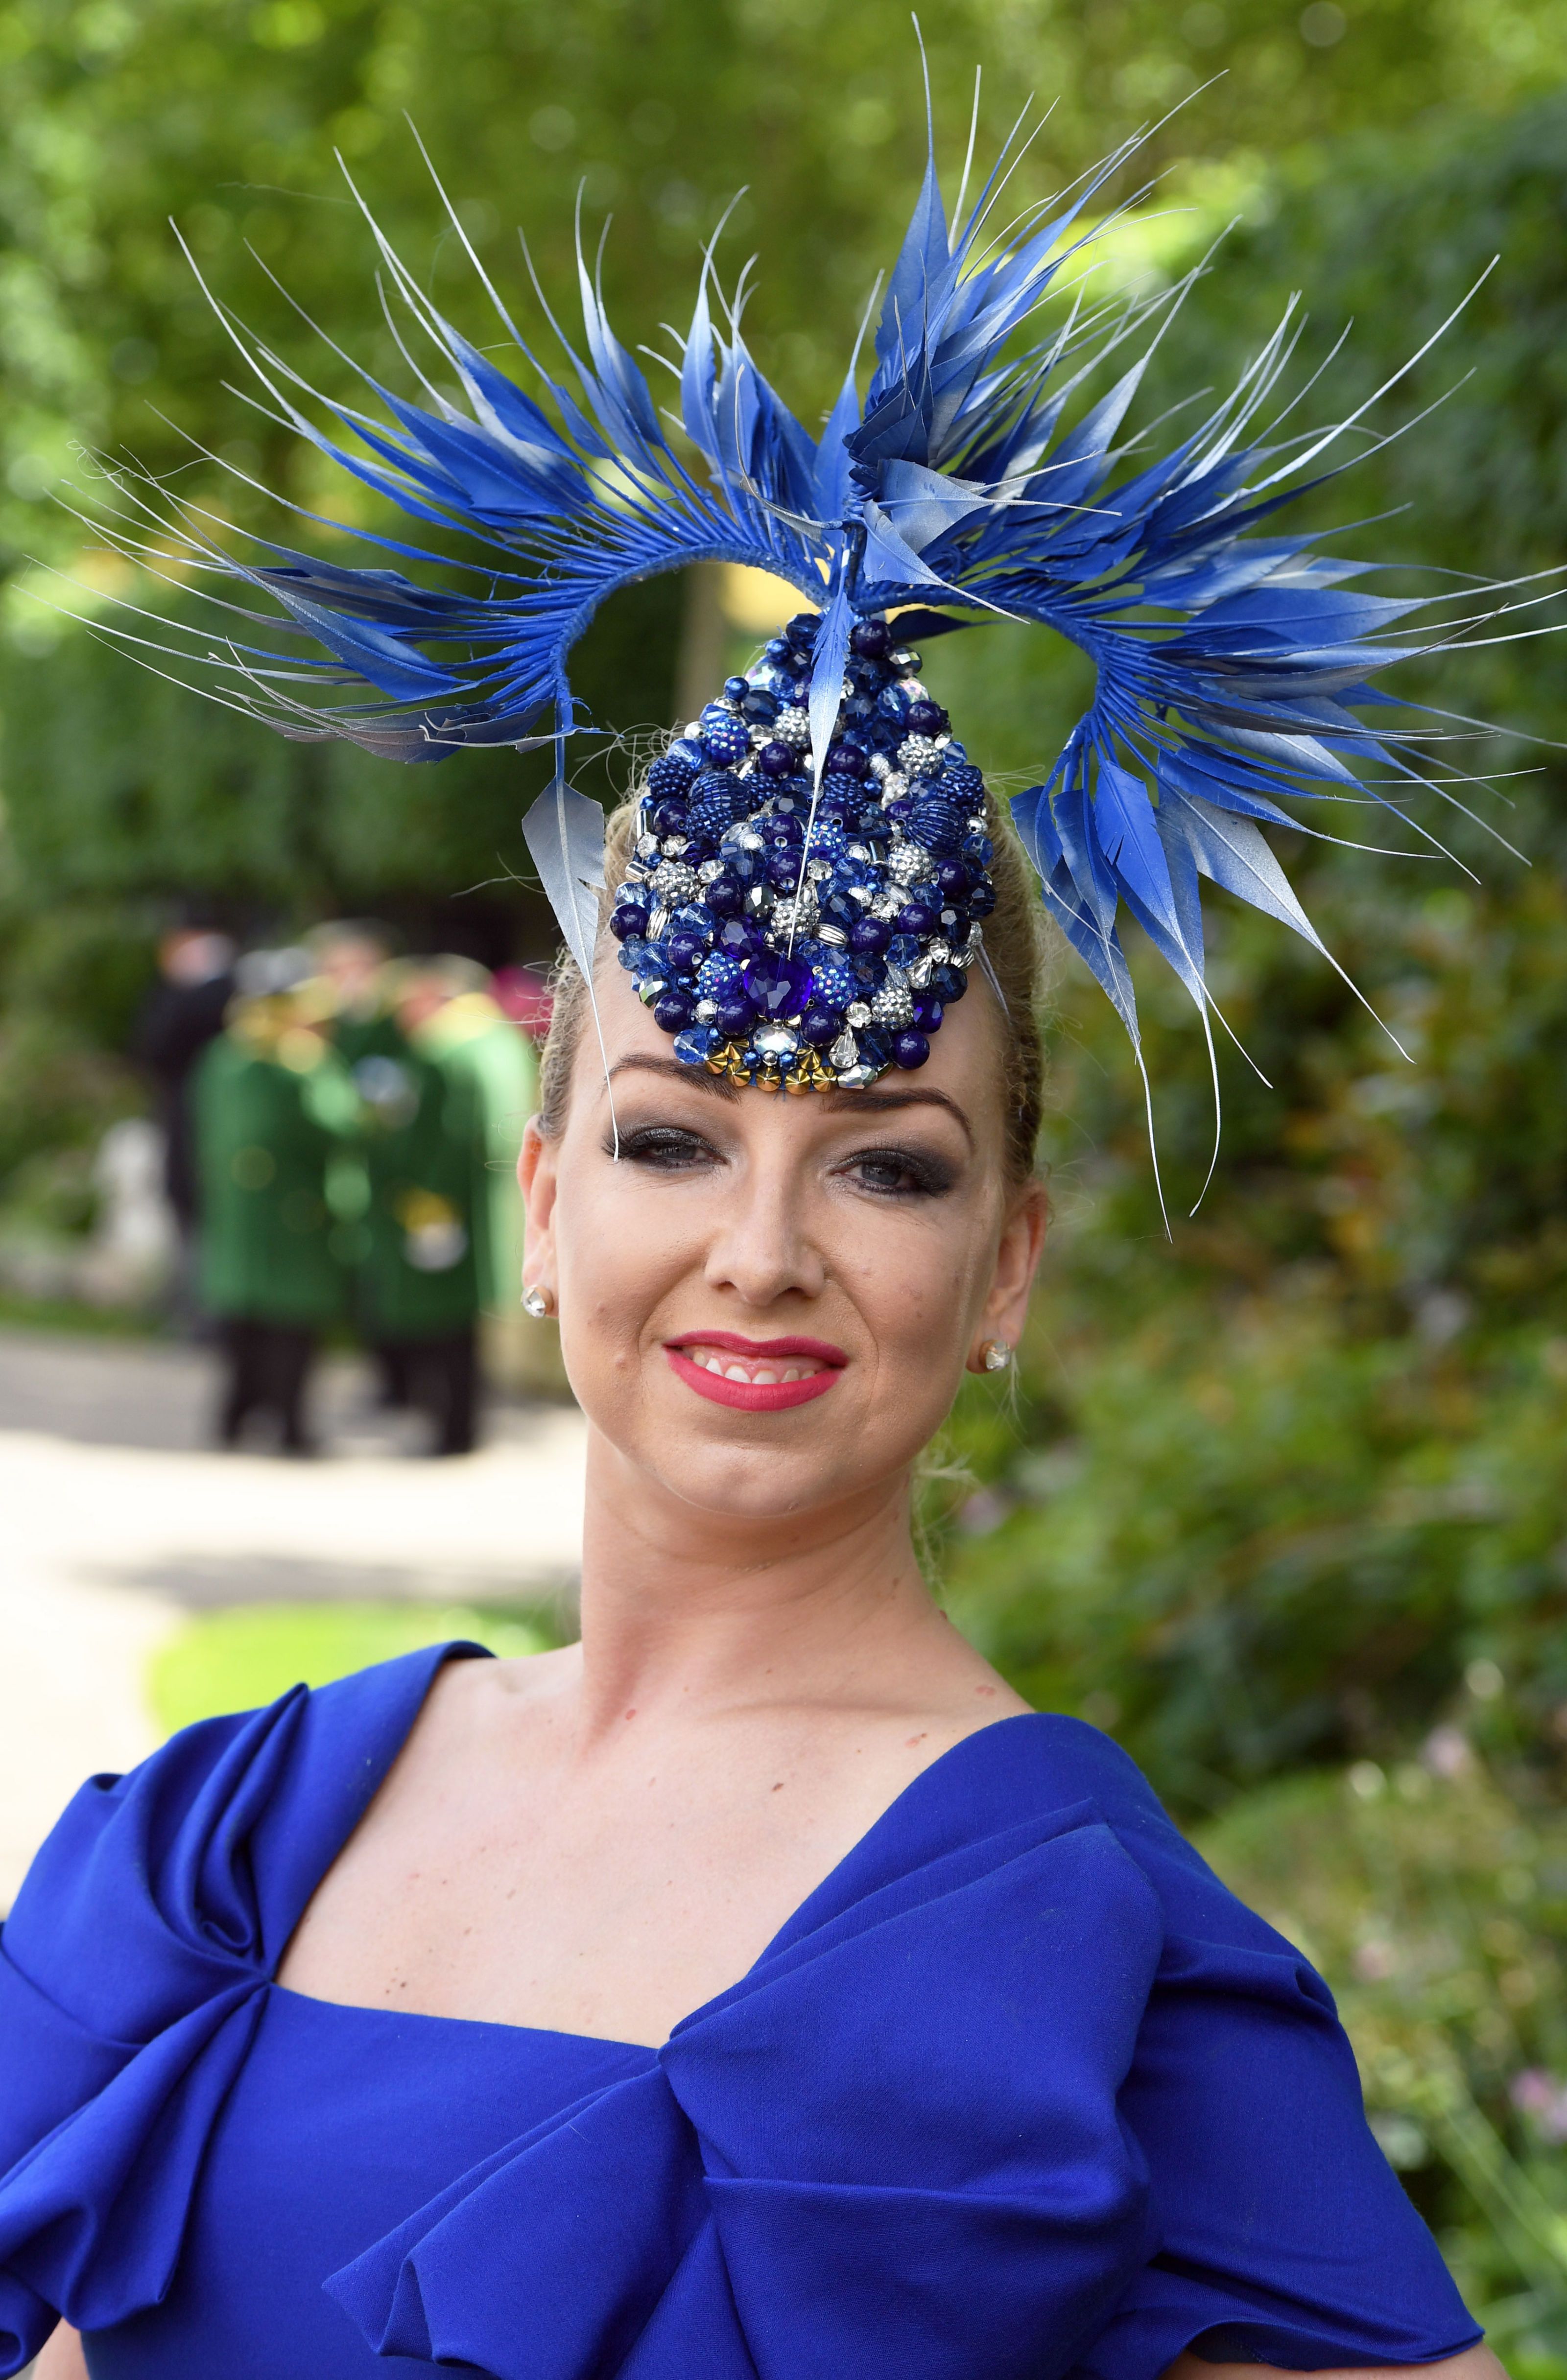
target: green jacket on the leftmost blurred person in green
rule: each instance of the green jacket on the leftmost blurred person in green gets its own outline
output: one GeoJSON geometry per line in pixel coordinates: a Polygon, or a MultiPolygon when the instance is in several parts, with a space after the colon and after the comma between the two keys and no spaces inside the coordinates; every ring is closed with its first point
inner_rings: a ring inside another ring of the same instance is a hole
{"type": "Polygon", "coordinates": [[[210,1314],[319,1330],[348,1309],[333,1164],[355,1100],[317,1035],[276,1047],[229,1031],[195,1069],[200,1297],[210,1314]]]}

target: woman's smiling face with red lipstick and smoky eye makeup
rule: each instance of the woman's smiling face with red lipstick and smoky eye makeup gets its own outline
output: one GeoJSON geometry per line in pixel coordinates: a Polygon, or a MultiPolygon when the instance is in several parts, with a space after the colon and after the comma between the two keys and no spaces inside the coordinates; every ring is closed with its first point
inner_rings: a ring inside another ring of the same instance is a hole
{"type": "Polygon", "coordinates": [[[681,1502],[822,1509],[907,1471],[988,1338],[1017,1342],[1043,1240],[1005,1180],[1000,1009],[981,981],[917,1073],[736,1090],[681,1066],[600,966],[557,1140],[529,1126],[531,1283],[588,1421],[681,1502]]]}

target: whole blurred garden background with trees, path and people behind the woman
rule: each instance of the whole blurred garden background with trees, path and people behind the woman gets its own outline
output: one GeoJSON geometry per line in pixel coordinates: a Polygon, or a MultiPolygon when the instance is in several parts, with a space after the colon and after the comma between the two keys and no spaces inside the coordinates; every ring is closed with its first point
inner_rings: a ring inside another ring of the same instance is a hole
{"type": "MultiPolygon", "coordinates": [[[[1567,559],[1557,0],[922,24],[948,193],[976,64],[981,145],[1055,102],[1019,200],[1165,119],[1112,271],[1174,278],[1224,238],[1145,419],[1226,386],[1296,288],[1303,378],[1348,328],[1343,412],[1498,257],[1374,426],[1438,409],[1312,502],[1346,552],[1419,566],[1407,588],[1567,559]]],[[[686,317],[743,188],[724,278],[760,252],[748,336],[812,424],[924,138],[881,0],[0,5],[0,1904],[79,1775],[186,1718],[443,1633],[569,1628],[581,1433],[517,1316],[505,1195],[552,952],[517,828],[536,762],[283,743],[136,669],[95,626],[179,616],[181,557],[133,571],[67,509],[121,452],[241,526],[281,519],[252,483],[372,519],[226,386],[169,219],[319,386],[350,376],[291,300],[402,386],[333,150],[488,336],[405,109],[524,312],[514,226],[564,300],[576,190],[614,217],[629,343],[686,317]]],[[[595,790],[795,602],[717,569],[619,597],[581,650],[617,731],[595,790]]],[[[1441,821],[1472,876],[1284,852],[1407,1064],[1303,942],[1215,902],[1215,990],[1272,1088],[1219,1059],[1191,1219],[1207,1061],[1138,971],[1169,1240],[1119,1026],[1062,962],[1022,1385],[964,1395],[926,1511],[960,1623],[1117,1735],[1322,1964],[1519,2380],[1567,2373],[1565,666],[1543,638],[1410,681],[1507,731],[1479,821],[1441,821]]],[[[1084,700],[1074,654],[1007,626],[926,678],[1012,788],[1084,700]]]]}

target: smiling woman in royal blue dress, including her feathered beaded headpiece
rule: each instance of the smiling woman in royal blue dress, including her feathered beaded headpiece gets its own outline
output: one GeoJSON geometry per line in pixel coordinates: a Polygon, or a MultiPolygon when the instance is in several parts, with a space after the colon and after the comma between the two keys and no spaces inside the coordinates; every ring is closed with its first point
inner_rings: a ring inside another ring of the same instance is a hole
{"type": "Polygon", "coordinates": [[[1117,631],[1115,700],[1019,804],[1122,1002],[1119,897],[1179,928],[1181,964],[1222,852],[1291,914],[1246,821],[1281,766],[1310,776],[1281,709],[1317,688],[1322,750],[1317,681],[1343,690],[1372,616],[1298,545],[1246,545],[1238,466],[1200,440],[1157,502],[1088,505],[1110,414],[1050,445],[1038,374],[1007,397],[981,371],[1060,226],[1003,305],[931,190],[862,428],[774,438],[776,400],[724,350],[688,390],[717,455],[703,509],[683,464],[650,462],[653,407],[588,298],[619,493],[562,462],[600,436],[581,407],[557,436],[476,350],[474,421],[398,414],[410,509],[433,455],[448,500],[488,474],[481,526],[538,536],[536,581],[491,578],[457,621],[386,571],[262,574],[298,616],[310,583],[314,635],[348,621],[333,683],[405,688],[345,731],[429,757],[519,733],[538,685],[564,733],[581,574],[655,566],[664,500],[672,540],[695,519],[664,559],[733,557],[750,524],[805,583],[817,547],[826,569],[822,616],[726,683],[607,843],[562,783],[531,816],[576,962],[522,1185],[526,1304],[557,1316],[588,1418],[581,1642],[298,1690],[71,1804],[0,1966],[5,2370],[60,2313],[40,2380],[1496,2373],[1319,1978],[1112,1742],[1007,1690],[914,1561],[919,1452],[964,1368],[1005,1368],[1041,1252],[1038,904],[879,590],[941,562],[943,600],[1005,581],[1045,616],[1019,552],[1048,533],[1050,588],[1076,538],[1098,590],[1084,638],[1160,566],[1188,605],[1179,638],[1117,631]],[[967,476],[943,483],[943,457],[967,476]],[[1124,597],[1107,516],[1122,564],[1129,521],[1141,538],[1124,597]],[[1224,669],[1193,659],[1205,635],[1224,669]],[[422,638],[510,657],[429,709],[448,662],[422,638]],[[1126,693],[1143,666],[1162,709],[1126,693]]]}

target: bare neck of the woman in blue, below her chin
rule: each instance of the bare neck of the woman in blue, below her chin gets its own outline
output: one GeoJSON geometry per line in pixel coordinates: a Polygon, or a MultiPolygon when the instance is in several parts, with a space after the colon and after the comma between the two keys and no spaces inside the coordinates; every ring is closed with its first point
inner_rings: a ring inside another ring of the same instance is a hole
{"type": "Polygon", "coordinates": [[[881,1704],[950,1659],[895,1476],[812,1514],[714,1514],[633,1473],[593,1430],[579,1742],[748,1704],[881,1704]]]}

